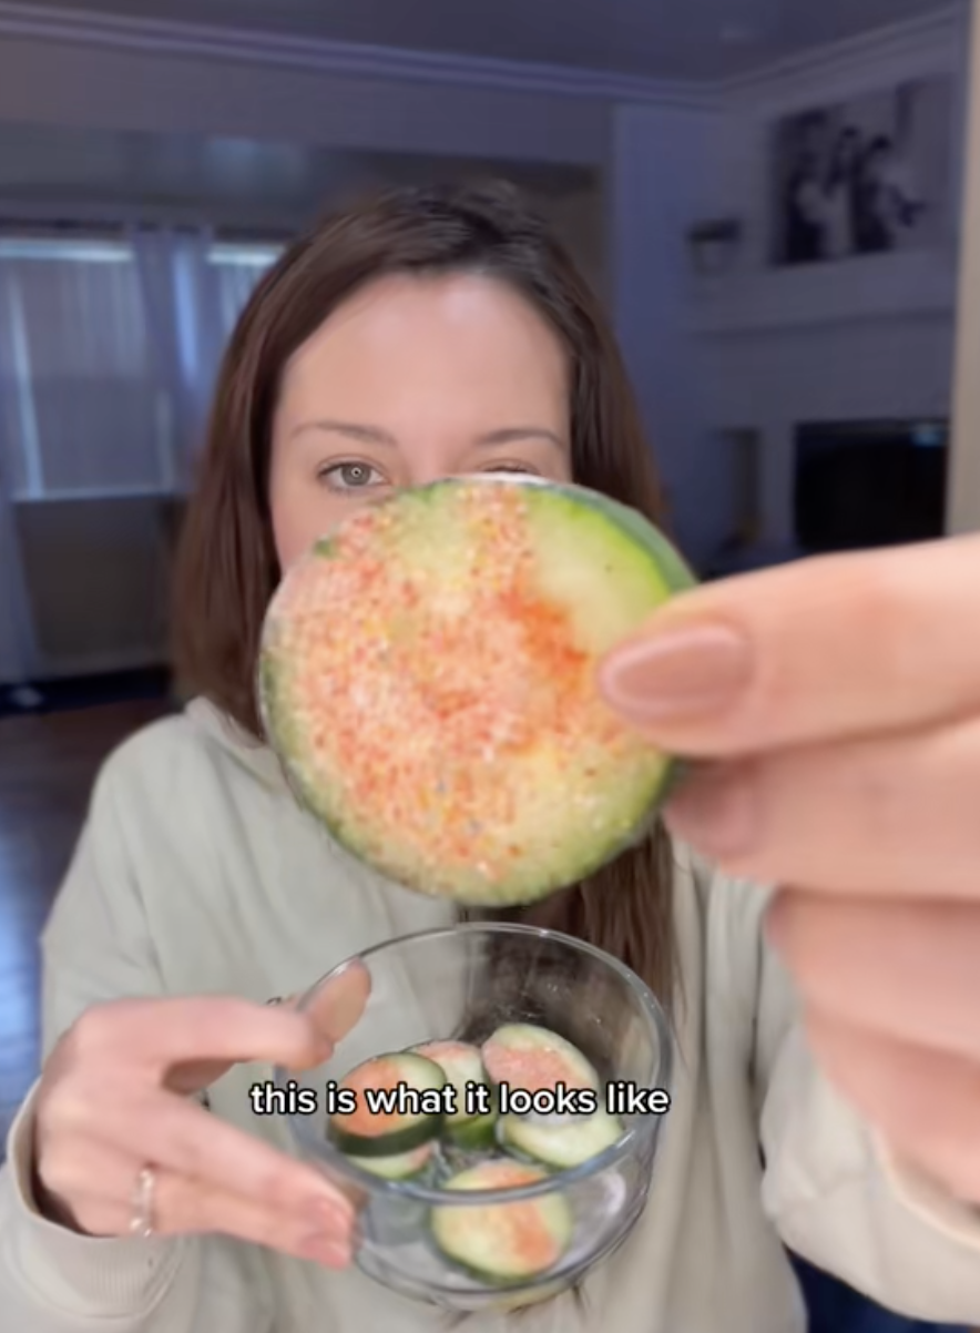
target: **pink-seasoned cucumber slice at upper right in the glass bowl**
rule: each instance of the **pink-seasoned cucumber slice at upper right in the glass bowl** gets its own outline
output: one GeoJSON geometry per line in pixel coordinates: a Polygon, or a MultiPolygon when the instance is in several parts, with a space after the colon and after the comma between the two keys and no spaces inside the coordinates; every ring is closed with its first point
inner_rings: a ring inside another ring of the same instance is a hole
{"type": "MultiPolygon", "coordinates": [[[[504,1024],[484,1041],[480,1054],[493,1084],[497,1088],[507,1085],[507,1093],[501,1089],[504,1096],[515,1090],[545,1093],[561,1086],[572,1094],[592,1093],[595,1101],[587,1113],[599,1109],[599,1074],[577,1046],[548,1028],[529,1022],[504,1024]]],[[[544,1106],[535,1110],[539,1118],[567,1118],[580,1113],[569,1105],[559,1105],[551,1112],[544,1106]]]]}

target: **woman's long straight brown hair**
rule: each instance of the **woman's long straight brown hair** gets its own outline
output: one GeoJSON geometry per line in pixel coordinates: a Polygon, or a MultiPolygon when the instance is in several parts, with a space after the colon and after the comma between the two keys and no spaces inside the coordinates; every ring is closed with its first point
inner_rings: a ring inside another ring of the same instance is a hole
{"type": "MultiPolygon", "coordinates": [[[[255,664],[279,581],[268,507],[272,413],[292,355],[363,284],[392,272],[479,271],[520,291],[571,368],[576,481],[643,512],[664,505],[635,399],[600,304],[571,257],[505,185],[395,191],[328,217],[256,287],[220,369],[197,489],[179,548],[176,670],[261,740],[255,664]]],[[[663,825],[588,881],[517,920],[585,938],[632,966],[668,1009],[671,845],[663,825]]]]}

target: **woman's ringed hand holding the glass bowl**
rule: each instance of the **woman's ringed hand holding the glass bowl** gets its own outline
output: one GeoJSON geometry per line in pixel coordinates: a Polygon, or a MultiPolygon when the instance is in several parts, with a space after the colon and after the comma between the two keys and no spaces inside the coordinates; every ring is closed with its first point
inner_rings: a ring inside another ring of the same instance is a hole
{"type": "Polygon", "coordinates": [[[192,1094],[231,1064],[325,1060],[367,1000],[352,968],[297,1013],[232,998],[120,1000],[84,1013],[48,1058],[35,1118],[43,1210],[92,1236],[129,1233],[144,1166],[155,1234],[223,1232],[331,1268],[355,1209],[324,1176],[209,1114],[192,1094]]]}

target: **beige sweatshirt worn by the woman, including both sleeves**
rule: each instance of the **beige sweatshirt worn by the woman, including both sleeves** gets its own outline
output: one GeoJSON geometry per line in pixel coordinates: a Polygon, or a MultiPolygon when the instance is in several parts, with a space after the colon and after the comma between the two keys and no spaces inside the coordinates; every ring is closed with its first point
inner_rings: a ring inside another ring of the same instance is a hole
{"type": "MultiPolygon", "coordinates": [[[[685,1006],[673,1104],[644,1216],[568,1298],[491,1333],[804,1333],[785,1242],[879,1302],[980,1325],[980,1216],[888,1165],[813,1066],[764,893],[677,848],[685,1006]],[[765,1168],[761,1165],[760,1148],[765,1168]]],[[[96,784],[44,934],[44,1050],[93,1001],[295,992],[449,909],[355,864],[304,814],[268,750],[203,702],[129,740],[96,784]]],[[[216,1114],[280,1146],[239,1066],[216,1114]]],[[[0,1174],[0,1328],[9,1333],[437,1333],[445,1316],[221,1236],[97,1240],[43,1220],[29,1188],[33,1093],[0,1174]]]]}

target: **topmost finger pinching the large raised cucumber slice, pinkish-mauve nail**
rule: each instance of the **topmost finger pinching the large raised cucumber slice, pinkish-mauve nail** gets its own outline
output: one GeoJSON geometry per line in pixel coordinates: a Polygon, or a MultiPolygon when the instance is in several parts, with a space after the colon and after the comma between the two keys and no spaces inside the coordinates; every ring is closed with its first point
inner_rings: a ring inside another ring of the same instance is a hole
{"type": "Polygon", "coordinates": [[[823,556],[708,584],[609,653],[608,702],[697,757],[980,710],[980,539],[823,556]]]}

